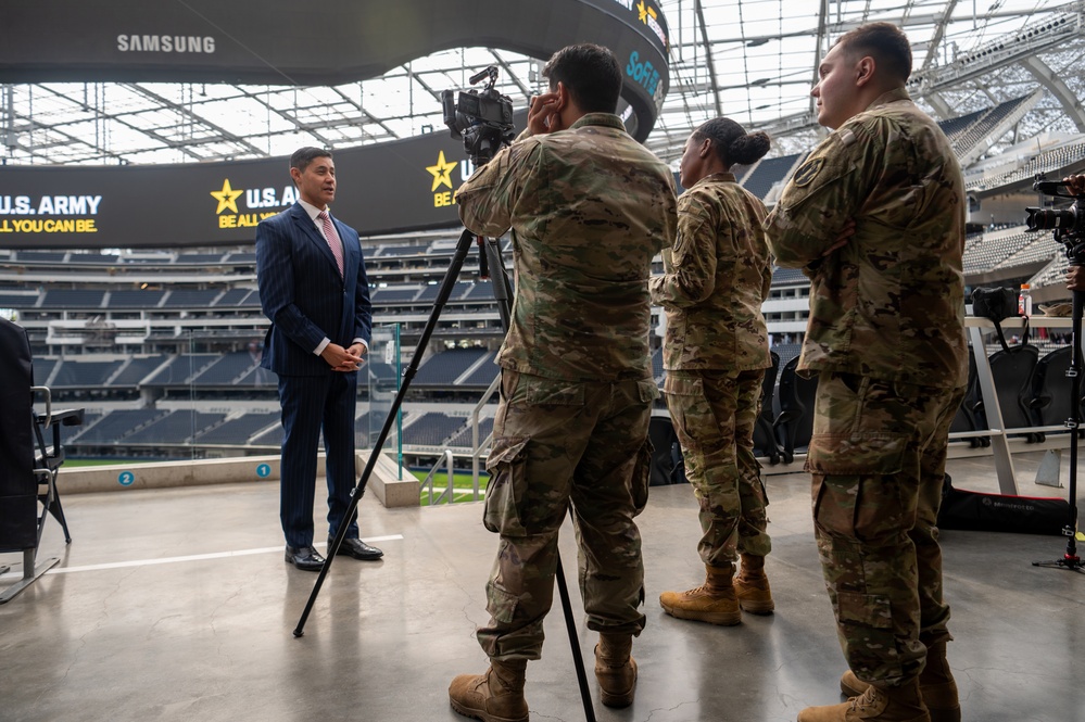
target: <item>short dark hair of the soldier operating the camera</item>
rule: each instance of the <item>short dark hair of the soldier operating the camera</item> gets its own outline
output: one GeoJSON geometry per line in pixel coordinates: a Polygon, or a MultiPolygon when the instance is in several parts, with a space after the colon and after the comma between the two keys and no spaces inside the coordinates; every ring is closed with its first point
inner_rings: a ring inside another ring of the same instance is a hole
{"type": "Polygon", "coordinates": [[[554,53],[543,68],[551,90],[562,83],[584,113],[614,113],[621,93],[621,66],[609,48],[585,42],[554,53]]]}

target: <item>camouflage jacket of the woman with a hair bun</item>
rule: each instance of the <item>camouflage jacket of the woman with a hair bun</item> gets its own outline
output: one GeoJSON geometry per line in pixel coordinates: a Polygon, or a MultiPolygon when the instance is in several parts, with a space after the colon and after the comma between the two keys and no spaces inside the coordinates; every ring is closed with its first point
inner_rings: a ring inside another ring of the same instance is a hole
{"type": "Polygon", "coordinates": [[[746,371],[772,365],[761,303],[772,270],[765,206],[730,173],[678,199],[678,241],[648,288],[667,309],[664,368],[746,371]]]}

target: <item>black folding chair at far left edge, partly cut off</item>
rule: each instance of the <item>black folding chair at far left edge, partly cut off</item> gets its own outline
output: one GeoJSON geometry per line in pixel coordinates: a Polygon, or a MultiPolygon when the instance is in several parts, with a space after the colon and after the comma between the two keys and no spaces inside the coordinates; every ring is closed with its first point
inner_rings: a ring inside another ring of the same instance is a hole
{"type": "MultiPolygon", "coordinates": [[[[46,519],[51,514],[72,536],[64,519],[56,474],[64,464],[60,427],[83,423],[83,409],[53,411],[46,387],[34,387],[30,344],[26,332],[0,318],[0,552],[23,554],[23,577],[0,591],[0,604],[9,601],[45,574],[59,557],[38,559],[46,519]],[[45,413],[36,414],[34,400],[40,397],[45,413]],[[52,428],[52,444],[46,431],[52,428]],[[39,511],[40,505],[40,511],[39,511]]],[[[0,573],[9,567],[0,567],[0,573]]]]}

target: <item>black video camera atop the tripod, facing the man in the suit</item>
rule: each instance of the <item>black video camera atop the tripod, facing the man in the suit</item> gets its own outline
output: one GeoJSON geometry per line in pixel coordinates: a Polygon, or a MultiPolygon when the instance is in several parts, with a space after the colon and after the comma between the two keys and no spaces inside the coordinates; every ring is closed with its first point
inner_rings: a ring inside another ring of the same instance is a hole
{"type": "Polygon", "coordinates": [[[485,165],[503,147],[513,142],[513,101],[494,90],[497,66],[491,65],[471,76],[471,85],[489,77],[490,83],[476,89],[441,91],[444,124],[453,138],[464,139],[464,150],[475,165],[485,165]]]}

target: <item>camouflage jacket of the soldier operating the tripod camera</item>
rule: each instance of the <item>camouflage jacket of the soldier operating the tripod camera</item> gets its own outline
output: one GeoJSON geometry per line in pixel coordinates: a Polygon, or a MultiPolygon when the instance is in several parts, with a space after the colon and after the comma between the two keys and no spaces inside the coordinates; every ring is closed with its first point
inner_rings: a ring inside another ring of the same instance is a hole
{"type": "Polygon", "coordinates": [[[497,364],[568,381],[645,379],[652,258],[674,178],[610,113],[521,137],[456,191],[471,231],[513,229],[516,297],[497,364]]]}

